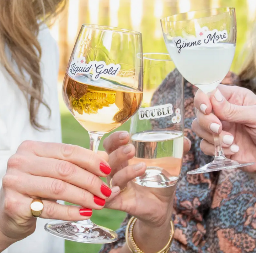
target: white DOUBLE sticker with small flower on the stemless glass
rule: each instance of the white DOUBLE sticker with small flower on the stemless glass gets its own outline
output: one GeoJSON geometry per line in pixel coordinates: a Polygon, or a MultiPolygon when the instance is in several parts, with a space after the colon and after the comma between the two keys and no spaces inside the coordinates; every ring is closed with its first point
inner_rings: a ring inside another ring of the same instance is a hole
{"type": "MultiPolygon", "coordinates": [[[[174,113],[172,104],[156,105],[146,108],[140,108],[138,111],[139,120],[158,119],[171,116],[174,113]]],[[[172,117],[172,123],[181,122],[180,109],[175,110],[176,116],[172,117]]]]}

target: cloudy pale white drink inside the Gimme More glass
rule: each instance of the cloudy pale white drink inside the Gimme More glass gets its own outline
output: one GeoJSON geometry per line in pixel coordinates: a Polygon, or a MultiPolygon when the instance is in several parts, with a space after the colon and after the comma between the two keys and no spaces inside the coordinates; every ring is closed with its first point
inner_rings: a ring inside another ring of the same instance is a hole
{"type": "Polygon", "coordinates": [[[180,54],[173,43],[166,43],[166,47],[181,75],[204,93],[224,79],[235,54],[235,45],[230,43],[182,48],[180,54]]]}

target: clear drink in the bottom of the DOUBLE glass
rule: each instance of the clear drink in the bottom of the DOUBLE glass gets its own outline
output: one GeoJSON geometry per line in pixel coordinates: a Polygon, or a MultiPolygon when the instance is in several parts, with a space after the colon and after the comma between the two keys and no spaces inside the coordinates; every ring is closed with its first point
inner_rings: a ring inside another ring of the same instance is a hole
{"type": "Polygon", "coordinates": [[[144,131],[130,137],[135,146],[134,158],[129,164],[144,162],[146,173],[135,179],[136,183],[147,187],[170,187],[175,185],[180,175],[183,158],[182,132],[144,131]]]}

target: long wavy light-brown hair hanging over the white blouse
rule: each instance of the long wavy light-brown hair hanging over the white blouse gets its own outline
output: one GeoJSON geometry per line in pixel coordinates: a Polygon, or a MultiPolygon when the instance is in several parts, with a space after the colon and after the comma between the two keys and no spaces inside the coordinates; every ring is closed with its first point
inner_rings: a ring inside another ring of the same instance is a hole
{"type": "Polygon", "coordinates": [[[39,105],[46,106],[49,113],[50,108],[43,101],[41,46],[37,35],[40,25],[49,21],[64,5],[65,0],[0,0],[0,61],[25,94],[31,125],[38,130],[44,129],[37,121],[39,105]]]}

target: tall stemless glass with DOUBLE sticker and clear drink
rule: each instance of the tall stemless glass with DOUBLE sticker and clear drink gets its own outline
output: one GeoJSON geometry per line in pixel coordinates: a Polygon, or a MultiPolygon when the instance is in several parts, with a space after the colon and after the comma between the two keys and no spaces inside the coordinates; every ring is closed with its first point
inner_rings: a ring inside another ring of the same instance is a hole
{"type": "Polygon", "coordinates": [[[131,120],[130,143],[136,151],[129,164],[147,166],[135,183],[171,187],[179,178],[183,158],[183,77],[169,54],[143,54],[143,66],[143,104],[131,120]]]}

